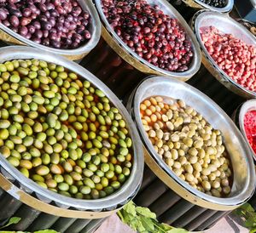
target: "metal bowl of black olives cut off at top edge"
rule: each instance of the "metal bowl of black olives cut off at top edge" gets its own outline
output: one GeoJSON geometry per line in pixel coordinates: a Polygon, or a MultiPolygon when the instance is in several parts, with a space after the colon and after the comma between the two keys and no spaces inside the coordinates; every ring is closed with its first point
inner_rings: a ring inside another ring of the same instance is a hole
{"type": "Polygon", "coordinates": [[[234,6],[234,0],[227,0],[227,4],[224,6],[224,8],[215,8],[206,3],[202,3],[200,0],[183,0],[183,2],[186,3],[187,5],[189,5],[189,7],[191,7],[191,8],[210,9],[212,11],[217,11],[217,12],[221,12],[221,13],[230,12],[234,6]]]}

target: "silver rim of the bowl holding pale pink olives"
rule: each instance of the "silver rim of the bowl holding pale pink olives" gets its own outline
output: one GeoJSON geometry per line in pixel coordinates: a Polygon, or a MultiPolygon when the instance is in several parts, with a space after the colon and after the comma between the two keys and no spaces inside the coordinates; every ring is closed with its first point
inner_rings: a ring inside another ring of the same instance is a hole
{"type": "MultiPolygon", "coordinates": [[[[229,15],[226,15],[226,14],[221,14],[221,13],[218,13],[218,12],[213,12],[213,11],[210,11],[210,10],[203,9],[203,10],[200,10],[197,13],[195,13],[195,15],[193,16],[193,19],[192,19],[192,27],[194,29],[195,37],[199,42],[201,51],[202,51],[203,55],[205,56],[205,58],[207,59],[207,62],[209,62],[210,65],[213,67],[213,69],[218,71],[218,74],[220,74],[221,77],[224,78],[224,82],[230,82],[236,89],[238,89],[239,91],[241,91],[245,95],[249,95],[252,98],[255,98],[256,97],[256,91],[253,92],[251,90],[248,90],[247,88],[244,88],[240,84],[235,82],[222,69],[219,68],[217,63],[212,59],[212,56],[210,54],[208,54],[207,48],[204,46],[204,44],[201,41],[199,20],[203,20],[203,18],[205,16],[208,17],[209,15],[213,15],[215,17],[216,16],[221,17],[224,20],[229,20],[232,24],[235,24],[238,28],[241,29],[241,31],[244,32],[244,34],[247,34],[248,37],[251,37],[252,41],[254,41],[254,46],[256,46],[256,37],[254,37],[253,34],[250,31],[247,31],[247,28],[245,26],[242,26],[240,23],[238,23],[236,20],[233,20],[229,15]]],[[[218,28],[218,26],[217,26],[217,28],[218,28]]]]}

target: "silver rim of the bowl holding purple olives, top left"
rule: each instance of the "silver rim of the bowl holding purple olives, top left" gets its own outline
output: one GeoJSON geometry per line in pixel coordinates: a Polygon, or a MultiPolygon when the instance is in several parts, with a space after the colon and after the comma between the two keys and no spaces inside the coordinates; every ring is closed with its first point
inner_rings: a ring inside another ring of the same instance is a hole
{"type": "Polygon", "coordinates": [[[21,43],[25,43],[26,45],[32,46],[34,48],[44,49],[45,51],[49,51],[54,54],[61,54],[61,55],[77,55],[77,54],[88,54],[90,50],[96,47],[96,44],[99,42],[101,37],[101,21],[96,12],[94,5],[91,1],[84,1],[84,0],[77,0],[79,5],[82,9],[89,11],[90,18],[91,18],[91,28],[92,33],[90,40],[87,43],[82,44],[79,48],[71,48],[71,49],[64,49],[64,48],[51,48],[49,46],[45,46],[40,43],[35,43],[30,39],[26,39],[26,37],[21,36],[19,33],[11,30],[9,27],[4,26],[0,23],[0,30],[4,33],[7,33],[9,36],[14,37],[15,39],[19,40],[21,43]]]}

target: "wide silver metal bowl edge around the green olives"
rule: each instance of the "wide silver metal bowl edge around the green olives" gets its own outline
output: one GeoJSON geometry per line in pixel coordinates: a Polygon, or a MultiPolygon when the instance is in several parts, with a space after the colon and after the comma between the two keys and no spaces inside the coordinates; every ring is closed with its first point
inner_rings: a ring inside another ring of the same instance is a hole
{"type": "MultiPolygon", "coordinates": [[[[13,167],[3,156],[0,156],[0,168],[3,168],[7,175],[11,178],[17,180],[24,189],[30,190],[30,192],[36,193],[38,196],[44,197],[44,200],[49,202],[55,202],[58,206],[73,207],[79,210],[94,210],[94,211],[106,211],[108,209],[114,209],[119,205],[128,202],[131,197],[135,195],[139,185],[143,178],[143,151],[142,143],[139,139],[137,129],[135,128],[134,122],[132,121],[128,111],[126,111],[125,106],[121,101],[113,94],[113,92],[101,82],[98,78],[92,75],[89,71],[85,70],[80,65],[73,61],[69,61],[61,56],[56,56],[44,52],[38,48],[28,48],[23,46],[11,46],[0,48],[0,62],[3,63],[7,60],[18,60],[18,59],[38,59],[45,60],[47,62],[55,63],[56,65],[63,65],[70,71],[76,72],[81,78],[90,81],[94,86],[100,88],[110,99],[110,101],[115,105],[127,123],[129,128],[131,139],[133,140],[133,168],[131,170],[130,178],[125,181],[125,184],[121,186],[119,190],[113,193],[113,195],[106,196],[97,200],[80,200],[74,199],[67,196],[61,196],[60,194],[54,193],[50,190],[46,190],[32,179],[27,179],[25,176],[13,167]]],[[[1,179],[0,179],[1,181],[1,179]]],[[[20,198],[19,192],[14,188],[9,190],[9,193],[16,198],[20,198]]]]}

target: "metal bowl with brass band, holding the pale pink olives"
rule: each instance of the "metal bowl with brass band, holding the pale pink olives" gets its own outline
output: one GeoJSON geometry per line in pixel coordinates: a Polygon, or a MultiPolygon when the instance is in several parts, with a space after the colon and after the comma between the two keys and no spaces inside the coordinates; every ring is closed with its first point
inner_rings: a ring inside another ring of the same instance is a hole
{"type": "Polygon", "coordinates": [[[208,54],[207,48],[205,48],[201,41],[200,28],[215,26],[219,31],[230,33],[234,37],[241,39],[243,42],[256,46],[256,39],[253,37],[253,34],[247,31],[244,26],[237,23],[236,20],[232,20],[228,15],[209,10],[202,10],[196,13],[191,24],[195,37],[200,43],[202,51],[202,63],[206,66],[207,70],[212,73],[212,76],[216,77],[219,82],[221,82],[226,88],[229,88],[235,94],[239,94],[247,99],[255,98],[256,92],[242,87],[218,67],[217,63],[212,59],[211,55],[208,54]]]}

